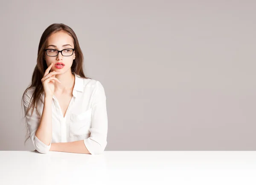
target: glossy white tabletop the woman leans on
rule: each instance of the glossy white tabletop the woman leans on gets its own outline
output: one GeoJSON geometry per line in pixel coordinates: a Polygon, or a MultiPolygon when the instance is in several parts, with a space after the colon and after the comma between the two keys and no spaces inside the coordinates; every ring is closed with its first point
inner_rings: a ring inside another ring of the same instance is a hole
{"type": "Polygon", "coordinates": [[[255,185],[255,151],[0,151],[0,185],[255,185]]]}

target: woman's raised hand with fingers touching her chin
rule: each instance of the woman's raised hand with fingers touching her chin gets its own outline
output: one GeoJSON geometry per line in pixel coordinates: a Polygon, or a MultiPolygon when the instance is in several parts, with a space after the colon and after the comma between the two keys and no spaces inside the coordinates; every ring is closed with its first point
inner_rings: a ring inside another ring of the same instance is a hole
{"type": "Polygon", "coordinates": [[[44,87],[44,97],[53,97],[54,93],[54,84],[55,81],[58,81],[58,83],[61,83],[61,81],[58,80],[58,78],[55,78],[56,74],[59,74],[60,72],[58,71],[52,71],[49,72],[50,69],[52,68],[52,65],[49,65],[49,67],[45,70],[44,77],[41,79],[41,82],[44,87]]]}

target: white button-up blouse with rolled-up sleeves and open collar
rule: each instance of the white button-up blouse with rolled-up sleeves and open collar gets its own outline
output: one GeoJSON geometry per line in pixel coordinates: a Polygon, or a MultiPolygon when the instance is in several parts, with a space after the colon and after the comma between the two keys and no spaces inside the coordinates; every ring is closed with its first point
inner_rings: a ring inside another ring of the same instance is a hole
{"type": "MultiPolygon", "coordinates": [[[[29,89],[23,98],[24,110],[27,111],[35,87],[29,89]]],[[[40,124],[44,107],[44,92],[42,101],[38,101],[38,112],[34,108],[31,116],[30,109],[26,116],[30,139],[40,153],[47,153],[52,143],[73,142],[84,140],[84,145],[91,154],[101,154],[107,145],[108,115],[105,90],[99,81],[81,78],[75,74],[73,97],[63,117],[57,98],[52,98],[52,141],[45,145],[36,136],[35,132],[40,124]]]]}

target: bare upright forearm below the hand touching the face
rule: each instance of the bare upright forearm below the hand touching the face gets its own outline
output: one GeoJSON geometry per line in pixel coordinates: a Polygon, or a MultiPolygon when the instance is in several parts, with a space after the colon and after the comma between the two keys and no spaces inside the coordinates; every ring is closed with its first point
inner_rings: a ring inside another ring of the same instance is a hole
{"type": "Polygon", "coordinates": [[[49,145],[52,141],[52,98],[44,98],[41,121],[35,136],[45,145],[49,145]]]}

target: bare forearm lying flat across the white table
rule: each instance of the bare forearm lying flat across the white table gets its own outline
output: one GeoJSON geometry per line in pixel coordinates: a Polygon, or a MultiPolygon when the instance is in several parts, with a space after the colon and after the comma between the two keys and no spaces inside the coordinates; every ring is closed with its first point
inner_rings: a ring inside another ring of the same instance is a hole
{"type": "Polygon", "coordinates": [[[90,154],[84,145],[84,140],[65,143],[52,143],[50,151],[90,154]]]}

